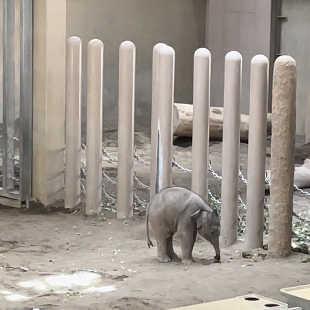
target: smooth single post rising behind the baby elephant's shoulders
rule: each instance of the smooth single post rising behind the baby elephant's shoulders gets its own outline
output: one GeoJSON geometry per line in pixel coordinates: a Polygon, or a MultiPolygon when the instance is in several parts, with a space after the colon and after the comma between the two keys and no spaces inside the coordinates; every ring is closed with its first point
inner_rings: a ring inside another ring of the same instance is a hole
{"type": "Polygon", "coordinates": [[[199,48],[194,54],[191,190],[205,201],[208,201],[210,75],[211,53],[199,48]]]}

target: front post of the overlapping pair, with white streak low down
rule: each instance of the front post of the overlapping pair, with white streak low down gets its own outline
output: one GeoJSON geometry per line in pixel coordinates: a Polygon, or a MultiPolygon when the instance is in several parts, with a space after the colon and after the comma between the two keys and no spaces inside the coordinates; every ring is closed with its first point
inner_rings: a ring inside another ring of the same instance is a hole
{"type": "Polygon", "coordinates": [[[158,193],[172,185],[172,111],[174,93],[175,52],[172,47],[164,46],[158,58],[158,119],[156,144],[156,186],[158,193]]]}

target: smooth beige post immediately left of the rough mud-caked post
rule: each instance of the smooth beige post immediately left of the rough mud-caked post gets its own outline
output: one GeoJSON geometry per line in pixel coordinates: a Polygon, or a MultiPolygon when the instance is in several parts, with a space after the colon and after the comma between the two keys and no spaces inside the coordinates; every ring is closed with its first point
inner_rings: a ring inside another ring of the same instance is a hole
{"type": "Polygon", "coordinates": [[[268,58],[256,55],[251,61],[248,185],[246,192],[246,245],[263,246],[266,130],[268,104],[268,58]]]}

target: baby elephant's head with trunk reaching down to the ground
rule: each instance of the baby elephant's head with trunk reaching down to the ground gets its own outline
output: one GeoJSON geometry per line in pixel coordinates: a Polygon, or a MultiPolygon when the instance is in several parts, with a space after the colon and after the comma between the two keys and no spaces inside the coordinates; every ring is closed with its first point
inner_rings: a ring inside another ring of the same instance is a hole
{"type": "Polygon", "coordinates": [[[221,259],[220,247],[218,239],[220,236],[220,219],[217,210],[205,211],[198,210],[191,215],[192,219],[197,221],[197,230],[204,239],[209,241],[215,250],[214,259],[219,261],[221,259]]]}

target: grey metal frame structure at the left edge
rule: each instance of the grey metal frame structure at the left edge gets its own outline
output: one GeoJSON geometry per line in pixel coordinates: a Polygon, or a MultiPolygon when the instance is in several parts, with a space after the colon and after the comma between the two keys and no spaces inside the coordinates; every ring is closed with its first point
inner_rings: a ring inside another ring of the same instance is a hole
{"type": "Polygon", "coordinates": [[[3,0],[3,186],[0,203],[20,206],[32,191],[33,0],[20,0],[20,177],[14,188],[15,2],[3,0]]]}

